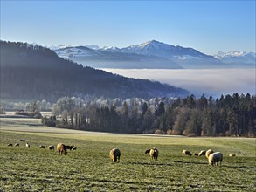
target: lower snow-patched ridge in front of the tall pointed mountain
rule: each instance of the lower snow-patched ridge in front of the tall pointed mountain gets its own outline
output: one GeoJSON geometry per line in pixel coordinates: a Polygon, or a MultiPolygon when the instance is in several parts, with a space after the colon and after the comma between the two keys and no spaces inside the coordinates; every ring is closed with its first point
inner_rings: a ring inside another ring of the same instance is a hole
{"type": "Polygon", "coordinates": [[[118,48],[89,49],[85,46],[66,47],[55,50],[61,58],[68,58],[82,65],[94,68],[121,69],[181,69],[168,58],[121,52],[118,48]]]}

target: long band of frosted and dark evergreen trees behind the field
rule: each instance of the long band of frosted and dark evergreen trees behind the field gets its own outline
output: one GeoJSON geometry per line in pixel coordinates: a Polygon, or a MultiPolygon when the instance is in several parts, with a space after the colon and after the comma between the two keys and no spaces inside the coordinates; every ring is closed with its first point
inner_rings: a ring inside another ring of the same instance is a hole
{"type": "MultiPolygon", "coordinates": [[[[187,136],[255,136],[256,98],[234,93],[219,99],[108,99],[105,103],[61,98],[52,113],[56,127],[115,133],[183,134],[187,136]]],[[[47,125],[47,123],[45,123],[47,125]]]]}

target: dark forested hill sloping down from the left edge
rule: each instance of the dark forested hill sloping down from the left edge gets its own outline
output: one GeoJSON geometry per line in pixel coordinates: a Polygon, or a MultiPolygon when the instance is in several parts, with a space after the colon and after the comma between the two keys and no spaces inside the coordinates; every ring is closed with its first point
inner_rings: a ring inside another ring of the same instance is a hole
{"type": "Polygon", "coordinates": [[[84,67],[38,45],[1,41],[1,99],[57,100],[63,96],[183,97],[188,91],[84,67]]]}

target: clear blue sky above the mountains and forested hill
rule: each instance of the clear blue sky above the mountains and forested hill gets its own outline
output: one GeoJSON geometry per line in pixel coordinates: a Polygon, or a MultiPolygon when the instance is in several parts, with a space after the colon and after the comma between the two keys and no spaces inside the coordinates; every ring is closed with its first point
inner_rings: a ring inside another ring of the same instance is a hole
{"type": "Polygon", "coordinates": [[[255,0],[5,1],[1,39],[126,47],[155,39],[206,54],[255,51],[255,0]]]}

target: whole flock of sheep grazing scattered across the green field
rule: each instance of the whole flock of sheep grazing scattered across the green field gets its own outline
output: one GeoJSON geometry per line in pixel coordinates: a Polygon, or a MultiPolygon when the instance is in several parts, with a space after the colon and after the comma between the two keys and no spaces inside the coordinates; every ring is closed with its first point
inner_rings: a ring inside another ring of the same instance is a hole
{"type": "MultiPolygon", "coordinates": [[[[20,140],[22,142],[24,142],[25,140],[20,140]]],[[[13,146],[11,143],[8,144],[9,147],[13,146]]],[[[14,144],[15,147],[18,147],[19,144],[16,143],[14,144]]],[[[25,144],[26,147],[30,148],[30,144],[26,142],[25,144]]],[[[47,146],[46,145],[40,145],[39,148],[46,148],[47,146]]],[[[48,146],[48,148],[52,151],[54,151],[54,146],[53,145],[50,145],[48,146]]],[[[69,150],[76,150],[76,147],[74,147],[73,145],[72,146],[68,146],[68,145],[65,145],[63,143],[59,143],[57,145],[57,150],[58,150],[58,153],[59,154],[67,154],[67,149],[69,150]]],[[[147,149],[145,151],[145,154],[149,154],[150,158],[152,160],[157,160],[158,158],[158,154],[159,154],[159,150],[156,148],[156,147],[153,147],[153,148],[150,148],[150,149],[147,149]]],[[[208,159],[208,162],[209,162],[209,165],[211,166],[218,166],[218,163],[219,165],[221,165],[221,162],[223,160],[223,154],[221,154],[220,152],[213,152],[212,149],[209,149],[209,150],[202,150],[200,151],[199,154],[191,154],[190,151],[188,150],[183,150],[182,152],[183,155],[196,155],[196,156],[206,156],[206,158],[208,159]]],[[[235,154],[230,154],[230,156],[235,156],[235,154]]],[[[111,159],[111,161],[113,162],[119,162],[120,161],[120,157],[121,157],[121,151],[120,149],[118,148],[113,148],[112,150],[110,150],[109,152],[109,157],[111,159]]]]}

